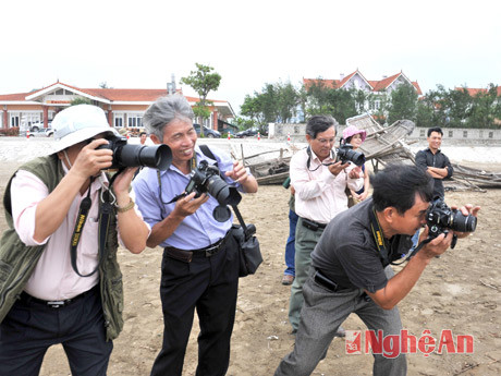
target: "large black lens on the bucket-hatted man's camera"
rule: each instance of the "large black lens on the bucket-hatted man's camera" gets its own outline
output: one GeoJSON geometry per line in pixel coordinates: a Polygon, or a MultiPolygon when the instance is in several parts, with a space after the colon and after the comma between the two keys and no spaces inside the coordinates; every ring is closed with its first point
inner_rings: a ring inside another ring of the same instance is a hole
{"type": "Polygon", "coordinates": [[[145,146],[130,145],[122,146],[117,154],[119,165],[125,167],[151,167],[159,170],[167,170],[172,163],[172,153],[167,145],[145,146]]]}

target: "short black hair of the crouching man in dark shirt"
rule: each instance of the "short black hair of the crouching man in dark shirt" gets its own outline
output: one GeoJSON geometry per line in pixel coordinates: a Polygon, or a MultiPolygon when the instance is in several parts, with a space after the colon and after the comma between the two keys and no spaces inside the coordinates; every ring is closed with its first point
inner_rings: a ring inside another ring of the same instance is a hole
{"type": "Polygon", "coordinates": [[[394,207],[403,215],[414,206],[416,193],[425,202],[433,198],[433,179],[417,166],[388,165],[384,170],[370,178],[374,187],[372,202],[377,211],[394,207]]]}

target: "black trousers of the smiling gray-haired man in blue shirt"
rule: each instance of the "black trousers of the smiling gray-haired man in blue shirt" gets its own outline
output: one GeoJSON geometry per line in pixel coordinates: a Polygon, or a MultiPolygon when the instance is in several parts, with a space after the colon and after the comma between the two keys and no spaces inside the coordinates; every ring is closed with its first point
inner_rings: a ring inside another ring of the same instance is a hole
{"type": "Polygon", "coordinates": [[[152,376],[181,376],[195,310],[200,325],[196,375],[225,375],[239,290],[237,256],[233,236],[216,255],[200,254],[191,263],[163,254],[163,343],[152,376]]]}

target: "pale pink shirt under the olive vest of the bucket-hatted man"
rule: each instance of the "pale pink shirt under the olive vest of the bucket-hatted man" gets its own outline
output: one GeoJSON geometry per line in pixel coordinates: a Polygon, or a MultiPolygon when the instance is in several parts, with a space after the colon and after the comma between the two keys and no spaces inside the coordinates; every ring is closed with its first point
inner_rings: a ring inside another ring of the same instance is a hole
{"type": "MultiPolygon", "coordinates": [[[[64,167],[64,171],[68,169],[64,167]]],[[[93,202],[77,246],[77,267],[82,275],[91,272],[98,265],[99,189],[108,183],[102,173],[90,185],[93,202]]],[[[74,298],[99,282],[99,271],[91,277],[80,277],[71,266],[70,242],[80,204],[87,195],[80,193],[73,199],[61,226],[50,236],[38,243],[35,232],[37,204],[49,195],[47,186],[33,173],[20,170],[12,180],[12,217],[14,228],[26,245],[46,244],[44,253],[24,290],[38,299],[52,301],[74,298]]],[[[137,207],[136,213],[140,216],[137,207]]]]}

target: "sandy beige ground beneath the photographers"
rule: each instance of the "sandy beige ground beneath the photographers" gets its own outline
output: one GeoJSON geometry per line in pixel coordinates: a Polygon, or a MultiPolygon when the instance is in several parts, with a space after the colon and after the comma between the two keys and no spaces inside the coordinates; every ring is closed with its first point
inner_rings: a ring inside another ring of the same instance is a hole
{"type": "MultiPolygon", "coordinates": [[[[20,158],[0,156],[0,193],[3,195],[7,180],[20,165],[20,158]]],[[[501,163],[469,165],[501,171],[501,163]]],[[[228,375],[272,375],[280,360],[293,349],[294,337],[290,335],[288,323],[290,288],[280,283],[289,231],[288,195],[281,186],[260,186],[258,193],[246,195],[240,205],[246,221],[256,225],[265,262],[255,276],[240,280],[228,375]]],[[[403,326],[410,333],[420,337],[429,330],[437,341],[447,329],[454,336],[473,336],[474,352],[439,354],[433,351],[428,356],[423,353],[408,355],[408,375],[501,375],[501,191],[452,192],[447,194],[447,203],[482,206],[477,230],[460,240],[454,250],[433,259],[399,306],[403,326]]],[[[0,230],[4,228],[2,211],[0,230]]],[[[120,251],[125,325],[114,341],[108,369],[111,376],[149,375],[161,345],[163,328],[158,291],[160,260],[160,248],[147,248],[139,255],[120,251]]],[[[343,327],[365,329],[354,315],[343,327]]],[[[185,357],[183,375],[186,376],[195,374],[197,335],[195,322],[185,357]]],[[[314,375],[370,375],[371,365],[372,356],[349,355],[344,339],[337,339],[314,375]]],[[[61,347],[48,351],[41,375],[70,375],[61,347]]]]}

